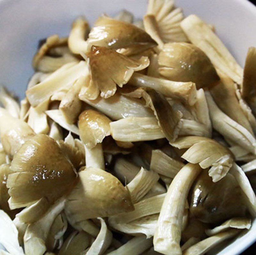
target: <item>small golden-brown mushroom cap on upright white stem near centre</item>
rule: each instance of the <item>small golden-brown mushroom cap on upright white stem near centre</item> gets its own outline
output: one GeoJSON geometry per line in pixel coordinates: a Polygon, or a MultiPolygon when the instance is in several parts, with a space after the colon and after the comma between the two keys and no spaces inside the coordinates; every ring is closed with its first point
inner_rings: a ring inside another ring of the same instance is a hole
{"type": "Polygon", "coordinates": [[[106,136],[110,135],[110,122],[107,116],[95,110],[90,109],[80,113],[78,128],[83,143],[89,149],[101,143],[106,136]]]}

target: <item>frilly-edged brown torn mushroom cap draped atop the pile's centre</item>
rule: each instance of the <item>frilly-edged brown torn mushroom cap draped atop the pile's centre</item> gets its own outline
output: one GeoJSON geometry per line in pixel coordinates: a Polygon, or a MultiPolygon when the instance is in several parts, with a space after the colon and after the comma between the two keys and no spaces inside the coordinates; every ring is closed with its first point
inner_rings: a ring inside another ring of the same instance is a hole
{"type": "Polygon", "coordinates": [[[115,94],[116,85],[123,87],[134,71],[145,69],[149,65],[147,57],[131,59],[106,47],[92,46],[87,53],[92,80],[87,98],[94,100],[100,94],[108,98],[115,94]]]}

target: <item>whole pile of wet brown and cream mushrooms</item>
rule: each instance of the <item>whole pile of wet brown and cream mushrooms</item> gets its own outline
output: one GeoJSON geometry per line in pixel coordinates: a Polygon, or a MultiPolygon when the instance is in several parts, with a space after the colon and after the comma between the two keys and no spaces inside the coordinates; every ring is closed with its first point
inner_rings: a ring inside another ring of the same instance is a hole
{"type": "Polygon", "coordinates": [[[25,98],[0,89],[0,254],[200,255],[250,229],[255,64],[172,0],[40,41],[25,98]]]}

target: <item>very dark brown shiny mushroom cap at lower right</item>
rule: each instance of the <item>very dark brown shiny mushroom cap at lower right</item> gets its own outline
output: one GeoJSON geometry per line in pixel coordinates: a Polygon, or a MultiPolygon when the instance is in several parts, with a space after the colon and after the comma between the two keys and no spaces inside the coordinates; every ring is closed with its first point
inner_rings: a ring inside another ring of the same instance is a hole
{"type": "Polygon", "coordinates": [[[203,171],[191,190],[189,200],[191,216],[207,223],[219,224],[232,217],[243,217],[246,211],[241,189],[229,173],[219,182],[212,182],[203,171]]]}

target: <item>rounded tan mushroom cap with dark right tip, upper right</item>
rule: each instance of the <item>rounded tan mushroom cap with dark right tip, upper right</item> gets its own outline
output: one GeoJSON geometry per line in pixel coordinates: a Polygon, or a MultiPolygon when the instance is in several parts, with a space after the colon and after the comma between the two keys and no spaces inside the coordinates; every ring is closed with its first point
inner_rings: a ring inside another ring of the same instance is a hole
{"type": "Polygon", "coordinates": [[[197,89],[213,86],[220,80],[206,54],[190,43],[166,43],[158,63],[158,71],[165,78],[195,82],[197,89]]]}

